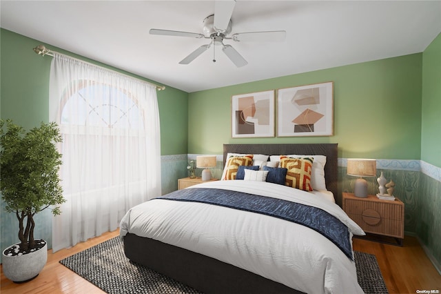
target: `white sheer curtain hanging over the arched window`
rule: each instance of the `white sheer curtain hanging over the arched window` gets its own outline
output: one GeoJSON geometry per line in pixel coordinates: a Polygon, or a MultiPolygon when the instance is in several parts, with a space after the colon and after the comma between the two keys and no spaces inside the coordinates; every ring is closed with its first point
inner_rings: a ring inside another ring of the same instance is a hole
{"type": "Polygon", "coordinates": [[[63,135],[67,199],[52,222],[53,251],[115,230],[128,209],[161,195],[155,86],[54,53],[50,121],[63,135]]]}

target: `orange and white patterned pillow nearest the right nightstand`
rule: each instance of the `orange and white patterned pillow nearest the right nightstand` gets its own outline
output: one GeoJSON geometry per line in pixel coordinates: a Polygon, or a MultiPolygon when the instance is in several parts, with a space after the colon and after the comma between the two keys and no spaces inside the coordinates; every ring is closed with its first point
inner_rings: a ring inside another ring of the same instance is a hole
{"type": "Polygon", "coordinates": [[[313,161],[314,159],[309,157],[291,158],[281,155],[280,167],[288,169],[285,185],[311,192],[311,170],[313,161]]]}

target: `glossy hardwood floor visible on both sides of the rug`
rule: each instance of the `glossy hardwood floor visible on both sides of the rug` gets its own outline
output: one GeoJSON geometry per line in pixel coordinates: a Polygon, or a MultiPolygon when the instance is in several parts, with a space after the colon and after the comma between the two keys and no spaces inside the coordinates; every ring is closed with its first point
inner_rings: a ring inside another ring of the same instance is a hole
{"type": "MultiPolygon", "coordinates": [[[[48,251],[48,264],[31,282],[15,284],[3,275],[1,268],[0,292],[2,294],[104,293],[60,264],[59,260],[118,234],[117,230],[56,253],[52,253],[52,250],[48,251]]],[[[431,264],[416,238],[405,236],[402,247],[354,238],[353,248],[356,251],[376,255],[389,293],[417,293],[417,290],[441,292],[441,275],[431,264]]]]}

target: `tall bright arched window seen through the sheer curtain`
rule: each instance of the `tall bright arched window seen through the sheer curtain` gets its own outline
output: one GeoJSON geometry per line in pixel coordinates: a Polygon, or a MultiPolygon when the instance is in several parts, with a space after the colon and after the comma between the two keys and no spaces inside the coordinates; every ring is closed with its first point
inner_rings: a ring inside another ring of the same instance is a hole
{"type": "Polygon", "coordinates": [[[70,175],[80,176],[64,180],[65,192],[142,181],[145,166],[138,161],[145,149],[144,121],[136,99],[109,85],[81,84],[90,86],[67,91],[72,95],[61,106],[63,161],[70,175]],[[85,128],[78,132],[80,126],[85,128]]]}

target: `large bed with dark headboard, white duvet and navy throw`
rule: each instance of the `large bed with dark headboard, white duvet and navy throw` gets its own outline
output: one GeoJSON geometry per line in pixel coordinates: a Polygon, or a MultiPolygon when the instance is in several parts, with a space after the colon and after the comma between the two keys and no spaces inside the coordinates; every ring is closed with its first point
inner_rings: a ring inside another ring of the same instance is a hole
{"type": "MultiPolygon", "coordinates": [[[[267,161],[280,155],[324,156],[326,190],[307,192],[274,182],[221,180],[170,193],[135,206],[123,217],[120,235],[125,255],[205,293],[362,293],[351,238],[364,232],[327,198],[338,193],[337,144],[223,147],[224,166],[232,155],[267,155],[267,161]],[[227,194],[220,194],[224,192],[227,194]],[[198,193],[204,201],[190,199],[198,193]],[[270,211],[273,202],[265,201],[273,201],[273,197],[280,204],[270,211]],[[223,203],[207,202],[212,198],[223,203]],[[229,206],[236,202],[240,207],[229,206]],[[256,213],[254,206],[248,207],[251,204],[268,211],[256,213]],[[282,204],[287,208],[279,209],[282,204]],[[292,221],[278,216],[281,210],[296,211],[290,216],[296,219],[316,217],[292,221]],[[317,211],[332,222],[322,220],[317,211]],[[317,224],[310,224],[313,221],[317,224]],[[324,222],[332,225],[324,226],[324,222]],[[337,234],[343,242],[336,241],[337,234]]],[[[245,177],[262,175],[258,170],[247,168],[245,177]]]]}

